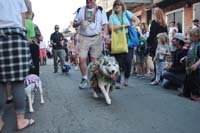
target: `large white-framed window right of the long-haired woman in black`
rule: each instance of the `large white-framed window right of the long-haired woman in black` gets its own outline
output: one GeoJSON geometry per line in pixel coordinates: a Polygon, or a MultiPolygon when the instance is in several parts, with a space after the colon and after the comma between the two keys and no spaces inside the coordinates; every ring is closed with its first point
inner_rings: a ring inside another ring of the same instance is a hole
{"type": "Polygon", "coordinates": [[[166,13],[167,24],[174,21],[180,32],[184,31],[184,9],[177,9],[166,13]]]}

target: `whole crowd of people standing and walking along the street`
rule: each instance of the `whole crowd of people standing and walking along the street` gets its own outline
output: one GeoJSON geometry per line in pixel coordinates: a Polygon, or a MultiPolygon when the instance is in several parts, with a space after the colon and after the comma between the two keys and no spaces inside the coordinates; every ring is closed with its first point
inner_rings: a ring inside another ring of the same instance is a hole
{"type": "MultiPolygon", "coordinates": [[[[48,54],[43,36],[32,21],[34,14],[31,2],[1,0],[0,4],[6,7],[0,8],[1,132],[4,127],[4,94],[7,94],[7,103],[14,100],[18,130],[35,123],[33,119],[25,118],[24,79],[28,74],[39,76],[40,65],[46,64],[48,54]],[[4,93],[5,90],[7,93],[4,93]],[[9,95],[11,91],[12,95],[9,95]]],[[[200,101],[199,20],[193,20],[193,25],[183,34],[176,22],[166,23],[165,15],[158,7],[153,10],[154,19],[150,27],[126,10],[122,0],[114,1],[112,11],[108,19],[105,10],[96,5],[96,0],[86,0],[86,6],[76,11],[73,22],[76,33],[70,40],[66,40],[63,33],[59,32],[59,25],[55,25],[55,32],[50,36],[54,73],[58,72],[59,65],[62,70],[66,62],[74,63],[76,70],[79,65],[82,75],[79,88],[86,88],[88,61],[96,61],[105,49],[112,51],[112,32],[119,33],[125,28],[128,52],[111,54],[118,61],[121,71],[114,77],[116,89],[122,87],[122,74],[123,84],[128,86],[131,73],[138,78],[149,77],[153,73],[151,85],[182,88],[179,96],[200,101]],[[129,27],[137,29],[137,45],[128,43],[131,39],[129,27]]]]}

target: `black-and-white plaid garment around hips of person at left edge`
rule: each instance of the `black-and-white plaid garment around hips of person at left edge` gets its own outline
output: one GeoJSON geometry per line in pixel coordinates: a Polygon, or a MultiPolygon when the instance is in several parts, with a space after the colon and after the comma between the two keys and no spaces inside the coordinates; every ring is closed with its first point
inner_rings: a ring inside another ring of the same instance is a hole
{"type": "Polygon", "coordinates": [[[23,81],[30,68],[30,48],[22,28],[0,28],[0,82],[23,81]]]}

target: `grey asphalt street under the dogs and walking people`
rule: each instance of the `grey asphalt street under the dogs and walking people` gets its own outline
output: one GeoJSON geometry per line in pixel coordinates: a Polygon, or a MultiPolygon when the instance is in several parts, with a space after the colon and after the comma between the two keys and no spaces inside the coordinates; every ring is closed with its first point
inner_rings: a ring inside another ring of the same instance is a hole
{"type": "Polygon", "coordinates": [[[53,73],[52,60],[41,66],[45,104],[39,94],[28,113],[36,124],[15,131],[13,104],[6,105],[3,133],[200,133],[200,102],[176,96],[177,91],[131,77],[128,87],[111,93],[112,104],[78,88],[80,71],[53,73]]]}

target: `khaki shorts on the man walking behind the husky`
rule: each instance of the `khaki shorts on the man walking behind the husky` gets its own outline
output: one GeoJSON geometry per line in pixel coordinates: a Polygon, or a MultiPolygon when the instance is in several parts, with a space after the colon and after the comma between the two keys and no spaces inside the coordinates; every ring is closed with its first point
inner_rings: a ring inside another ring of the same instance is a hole
{"type": "Polygon", "coordinates": [[[87,58],[90,50],[90,56],[98,58],[102,54],[103,45],[101,35],[95,37],[86,37],[79,35],[78,51],[79,57],[87,58]]]}

